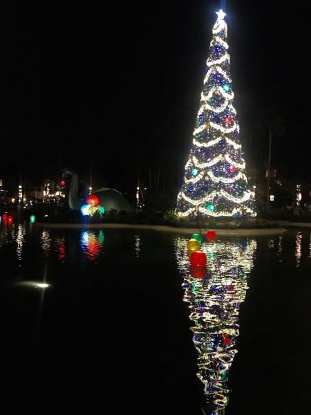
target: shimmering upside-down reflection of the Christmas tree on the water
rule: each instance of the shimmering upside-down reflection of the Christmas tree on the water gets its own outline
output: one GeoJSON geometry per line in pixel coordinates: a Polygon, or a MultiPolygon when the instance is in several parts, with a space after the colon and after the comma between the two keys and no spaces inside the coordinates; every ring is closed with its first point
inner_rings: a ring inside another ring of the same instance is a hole
{"type": "MultiPolygon", "coordinates": [[[[237,350],[238,311],[245,300],[247,274],[254,266],[256,240],[202,242],[207,255],[206,273],[193,277],[187,254],[187,241],[175,239],[178,269],[188,302],[191,331],[198,351],[198,378],[204,385],[207,405],[215,415],[223,414],[228,403],[228,371],[237,350]]],[[[204,267],[196,267],[204,268],[204,267]]]]}

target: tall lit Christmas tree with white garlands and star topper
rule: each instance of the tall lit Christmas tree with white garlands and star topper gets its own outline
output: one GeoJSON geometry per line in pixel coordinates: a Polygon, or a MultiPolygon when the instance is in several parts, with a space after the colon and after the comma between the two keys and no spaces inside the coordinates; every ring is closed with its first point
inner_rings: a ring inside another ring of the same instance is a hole
{"type": "Polygon", "coordinates": [[[184,184],[176,203],[176,213],[183,217],[256,216],[233,106],[225,13],[220,10],[217,15],[184,184]]]}

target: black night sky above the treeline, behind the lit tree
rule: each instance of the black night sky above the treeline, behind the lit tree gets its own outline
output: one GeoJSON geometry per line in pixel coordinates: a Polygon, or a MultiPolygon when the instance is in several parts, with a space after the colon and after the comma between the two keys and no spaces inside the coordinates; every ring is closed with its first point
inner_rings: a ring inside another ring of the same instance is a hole
{"type": "Polygon", "coordinates": [[[246,162],[263,169],[269,133],[252,120],[273,106],[287,132],[272,138],[272,164],[309,172],[308,13],[233,0],[2,3],[0,172],[92,165],[116,187],[166,154],[182,181],[220,8],[246,162]]]}

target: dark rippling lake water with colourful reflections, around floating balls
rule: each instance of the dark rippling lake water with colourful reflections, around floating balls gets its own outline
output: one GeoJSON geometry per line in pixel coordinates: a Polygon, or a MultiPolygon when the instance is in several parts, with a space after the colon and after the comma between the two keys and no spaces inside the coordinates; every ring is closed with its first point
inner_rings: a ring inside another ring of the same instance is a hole
{"type": "Polygon", "coordinates": [[[1,223],[7,413],[308,414],[311,229],[190,237],[1,223]]]}

